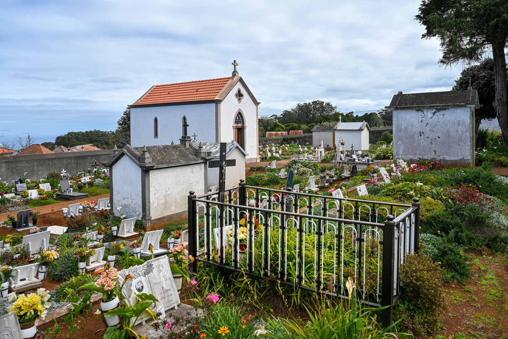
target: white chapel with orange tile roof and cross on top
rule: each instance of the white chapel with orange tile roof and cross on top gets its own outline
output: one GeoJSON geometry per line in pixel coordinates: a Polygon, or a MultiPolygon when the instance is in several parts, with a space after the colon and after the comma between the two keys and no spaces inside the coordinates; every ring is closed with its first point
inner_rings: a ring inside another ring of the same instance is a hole
{"type": "Polygon", "coordinates": [[[239,76],[154,85],[131,107],[131,145],[178,143],[192,136],[203,142],[236,143],[245,162],[259,161],[258,106],[239,76]]]}

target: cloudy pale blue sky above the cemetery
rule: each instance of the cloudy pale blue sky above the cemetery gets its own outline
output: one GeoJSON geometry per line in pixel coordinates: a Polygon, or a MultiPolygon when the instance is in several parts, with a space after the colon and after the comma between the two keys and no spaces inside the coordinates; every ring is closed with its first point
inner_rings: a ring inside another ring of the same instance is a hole
{"type": "Polygon", "coordinates": [[[450,90],[419,0],[14,1],[0,12],[0,138],[39,142],[114,130],[150,86],[230,76],[260,115],[299,102],[375,111],[404,93],[450,90]]]}

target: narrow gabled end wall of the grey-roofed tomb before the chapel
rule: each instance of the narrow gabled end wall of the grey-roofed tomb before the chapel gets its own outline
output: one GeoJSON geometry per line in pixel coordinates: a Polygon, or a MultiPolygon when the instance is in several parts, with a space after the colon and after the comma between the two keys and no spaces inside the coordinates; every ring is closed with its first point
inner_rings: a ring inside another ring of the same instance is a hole
{"type": "Polygon", "coordinates": [[[123,156],[113,165],[113,206],[111,210],[120,216],[117,207],[126,218],[141,220],[141,168],[129,157],[123,156]]]}

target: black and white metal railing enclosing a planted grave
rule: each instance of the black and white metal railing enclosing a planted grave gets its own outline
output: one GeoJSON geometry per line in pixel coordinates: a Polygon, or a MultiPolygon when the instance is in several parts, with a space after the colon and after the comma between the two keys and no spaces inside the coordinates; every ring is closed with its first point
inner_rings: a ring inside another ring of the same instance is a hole
{"type": "MultiPolygon", "coordinates": [[[[351,277],[365,304],[388,306],[398,299],[405,256],[418,252],[418,198],[404,205],[241,181],[226,190],[224,203],[216,192],[190,192],[189,254],[197,261],[341,298],[347,298],[342,283],[351,277]]],[[[195,261],[189,270],[196,269],[195,261]]],[[[391,323],[388,307],[383,326],[391,323]]]]}

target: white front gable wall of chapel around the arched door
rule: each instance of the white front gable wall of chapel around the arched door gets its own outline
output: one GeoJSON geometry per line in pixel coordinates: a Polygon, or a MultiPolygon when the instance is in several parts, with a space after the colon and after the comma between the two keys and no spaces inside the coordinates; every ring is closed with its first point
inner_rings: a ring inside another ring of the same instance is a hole
{"type": "Polygon", "coordinates": [[[258,114],[256,105],[247,94],[247,90],[240,82],[233,87],[230,93],[220,103],[220,141],[230,142],[235,140],[233,124],[235,122],[236,112],[241,109],[245,119],[245,146],[244,150],[248,154],[246,162],[255,162],[258,157],[258,114]],[[245,96],[241,103],[235,98],[238,88],[245,96]]]}

